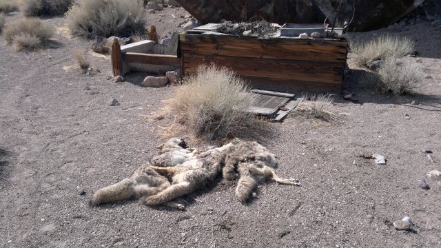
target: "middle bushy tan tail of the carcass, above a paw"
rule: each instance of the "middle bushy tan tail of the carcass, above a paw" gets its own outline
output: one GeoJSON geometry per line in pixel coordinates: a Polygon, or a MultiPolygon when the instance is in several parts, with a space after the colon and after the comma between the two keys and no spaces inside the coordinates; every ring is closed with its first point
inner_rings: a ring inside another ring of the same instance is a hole
{"type": "Polygon", "coordinates": [[[196,189],[194,185],[191,185],[188,182],[176,183],[156,195],[145,196],[141,201],[147,206],[161,205],[170,202],[170,200],[185,196],[186,194],[193,192],[194,189],[196,189]]]}

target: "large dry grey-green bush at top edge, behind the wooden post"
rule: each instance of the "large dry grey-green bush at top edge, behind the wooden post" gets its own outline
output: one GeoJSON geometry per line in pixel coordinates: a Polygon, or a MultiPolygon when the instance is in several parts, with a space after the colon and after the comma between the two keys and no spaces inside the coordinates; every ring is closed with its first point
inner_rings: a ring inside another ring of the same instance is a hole
{"type": "Polygon", "coordinates": [[[70,32],[82,37],[130,37],[146,32],[140,0],[79,0],[66,17],[70,32]]]}

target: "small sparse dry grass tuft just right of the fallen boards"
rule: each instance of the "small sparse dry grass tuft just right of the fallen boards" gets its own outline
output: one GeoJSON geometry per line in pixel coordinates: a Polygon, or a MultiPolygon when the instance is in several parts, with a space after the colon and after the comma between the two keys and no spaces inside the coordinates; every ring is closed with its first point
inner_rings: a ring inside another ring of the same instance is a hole
{"type": "Polygon", "coordinates": [[[322,121],[329,122],[338,122],[340,121],[338,115],[330,112],[329,107],[331,107],[332,102],[334,101],[329,94],[317,94],[308,96],[307,94],[303,95],[302,98],[305,101],[302,101],[298,106],[298,110],[305,112],[306,114],[318,118],[322,121]]]}

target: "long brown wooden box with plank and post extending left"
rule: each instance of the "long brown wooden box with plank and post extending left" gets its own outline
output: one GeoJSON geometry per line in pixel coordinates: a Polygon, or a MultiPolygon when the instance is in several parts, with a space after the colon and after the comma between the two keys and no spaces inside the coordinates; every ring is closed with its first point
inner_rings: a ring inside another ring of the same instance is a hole
{"type": "Polygon", "coordinates": [[[177,56],[112,52],[114,74],[124,61],[181,65],[181,74],[196,72],[201,63],[232,68],[252,87],[280,92],[342,91],[347,60],[345,39],[236,37],[195,29],[179,34],[177,56]],[[121,58],[121,61],[119,59],[121,58]],[[116,69],[116,70],[115,70],[116,69]]]}

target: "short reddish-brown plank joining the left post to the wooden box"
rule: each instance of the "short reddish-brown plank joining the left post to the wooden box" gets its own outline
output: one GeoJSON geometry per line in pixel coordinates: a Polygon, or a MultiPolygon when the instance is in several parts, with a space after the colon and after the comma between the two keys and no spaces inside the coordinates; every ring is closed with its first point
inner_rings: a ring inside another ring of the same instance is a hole
{"type": "Polygon", "coordinates": [[[176,55],[162,54],[141,54],[135,52],[127,52],[123,54],[124,61],[129,63],[148,63],[153,65],[181,65],[181,59],[176,55]]]}

